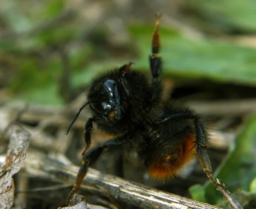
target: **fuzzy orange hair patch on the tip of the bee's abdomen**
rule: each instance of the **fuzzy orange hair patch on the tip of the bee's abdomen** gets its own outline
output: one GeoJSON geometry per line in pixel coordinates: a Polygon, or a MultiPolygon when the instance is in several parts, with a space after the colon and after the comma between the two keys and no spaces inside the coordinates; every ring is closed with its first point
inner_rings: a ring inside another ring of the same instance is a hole
{"type": "Polygon", "coordinates": [[[170,147],[170,154],[160,159],[156,157],[156,160],[149,165],[148,171],[151,177],[162,181],[173,178],[180,168],[195,156],[194,146],[195,136],[188,134],[180,140],[178,146],[175,146],[175,151],[172,150],[173,147],[170,147]]]}

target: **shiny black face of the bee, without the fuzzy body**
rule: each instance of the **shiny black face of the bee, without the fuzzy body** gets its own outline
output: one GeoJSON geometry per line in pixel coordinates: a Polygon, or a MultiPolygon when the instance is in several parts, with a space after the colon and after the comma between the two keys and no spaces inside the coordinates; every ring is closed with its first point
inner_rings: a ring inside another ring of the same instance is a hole
{"type": "Polygon", "coordinates": [[[99,85],[97,100],[97,102],[90,103],[90,108],[94,113],[107,119],[121,118],[120,92],[114,80],[108,79],[99,85]]]}

